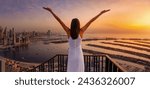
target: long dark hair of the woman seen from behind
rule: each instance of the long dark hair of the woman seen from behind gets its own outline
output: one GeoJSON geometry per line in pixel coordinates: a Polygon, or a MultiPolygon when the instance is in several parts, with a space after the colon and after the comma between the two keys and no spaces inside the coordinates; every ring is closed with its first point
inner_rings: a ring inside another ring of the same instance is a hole
{"type": "Polygon", "coordinates": [[[77,39],[80,33],[80,22],[77,18],[72,19],[70,36],[72,39],[77,39]]]}

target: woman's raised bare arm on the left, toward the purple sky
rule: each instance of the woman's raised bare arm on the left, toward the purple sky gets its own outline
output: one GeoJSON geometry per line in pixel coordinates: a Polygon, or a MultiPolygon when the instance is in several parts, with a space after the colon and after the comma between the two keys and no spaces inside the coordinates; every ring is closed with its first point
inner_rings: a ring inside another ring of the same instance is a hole
{"type": "Polygon", "coordinates": [[[66,31],[66,33],[69,34],[69,28],[63,23],[63,21],[61,21],[61,19],[50,8],[43,7],[43,9],[49,11],[55,17],[55,19],[61,24],[63,29],[66,31]]]}

